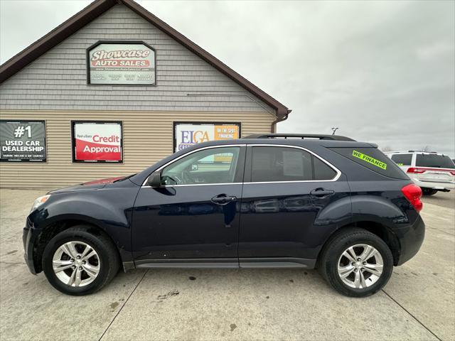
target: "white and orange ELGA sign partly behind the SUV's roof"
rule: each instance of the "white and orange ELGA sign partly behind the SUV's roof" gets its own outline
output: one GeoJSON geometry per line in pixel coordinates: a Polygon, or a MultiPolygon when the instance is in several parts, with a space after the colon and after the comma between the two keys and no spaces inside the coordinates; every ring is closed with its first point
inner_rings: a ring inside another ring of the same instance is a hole
{"type": "Polygon", "coordinates": [[[205,141],[238,139],[240,123],[183,123],[174,122],[174,151],[205,141]]]}

